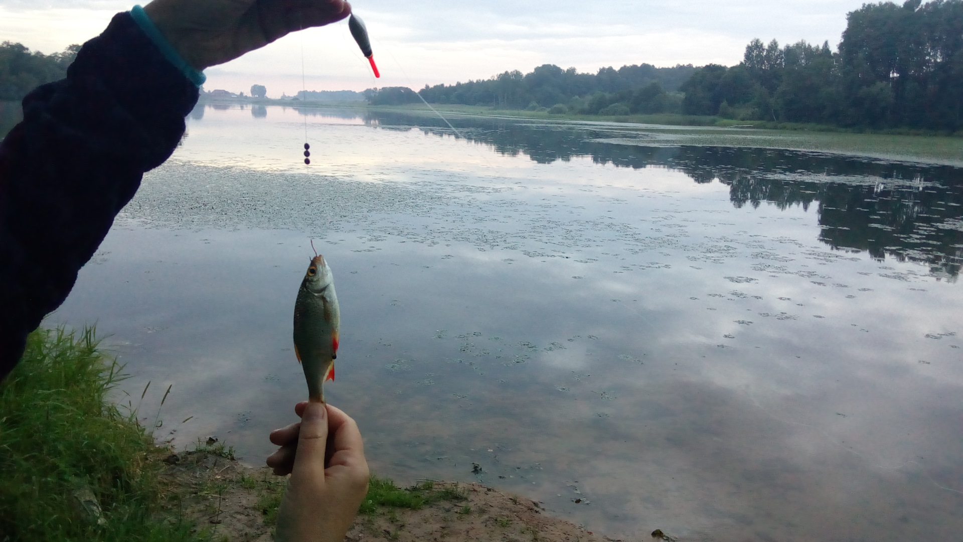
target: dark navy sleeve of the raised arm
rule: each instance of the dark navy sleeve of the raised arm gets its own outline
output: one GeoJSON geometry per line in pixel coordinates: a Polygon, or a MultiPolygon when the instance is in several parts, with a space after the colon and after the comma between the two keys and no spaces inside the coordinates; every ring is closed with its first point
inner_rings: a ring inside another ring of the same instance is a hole
{"type": "Polygon", "coordinates": [[[184,135],[197,89],[117,14],[0,144],[0,378],[184,135]]]}

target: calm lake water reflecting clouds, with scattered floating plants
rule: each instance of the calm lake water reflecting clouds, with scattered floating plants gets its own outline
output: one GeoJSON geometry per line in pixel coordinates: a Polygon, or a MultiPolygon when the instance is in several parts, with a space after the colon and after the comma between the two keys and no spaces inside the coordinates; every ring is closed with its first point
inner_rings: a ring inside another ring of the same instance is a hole
{"type": "Polygon", "coordinates": [[[313,238],[377,474],[613,536],[958,539],[963,169],[450,121],[196,109],[48,324],[97,324],[159,438],[260,464],[313,238]]]}

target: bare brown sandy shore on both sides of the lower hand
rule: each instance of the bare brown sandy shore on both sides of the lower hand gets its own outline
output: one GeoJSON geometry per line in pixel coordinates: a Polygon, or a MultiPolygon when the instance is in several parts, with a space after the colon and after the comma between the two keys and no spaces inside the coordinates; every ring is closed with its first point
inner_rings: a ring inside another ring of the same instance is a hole
{"type": "MultiPolygon", "coordinates": [[[[169,482],[169,511],[182,510],[213,540],[273,540],[273,510],[284,479],[209,452],[181,452],[161,458],[169,482]]],[[[618,539],[593,533],[548,515],[538,502],[477,483],[436,482],[463,499],[436,501],[421,509],[382,508],[358,514],[346,540],[401,542],[603,542],[618,539]]],[[[671,537],[666,537],[671,540],[671,537]]],[[[628,542],[628,541],[625,541],[628,542]]]]}

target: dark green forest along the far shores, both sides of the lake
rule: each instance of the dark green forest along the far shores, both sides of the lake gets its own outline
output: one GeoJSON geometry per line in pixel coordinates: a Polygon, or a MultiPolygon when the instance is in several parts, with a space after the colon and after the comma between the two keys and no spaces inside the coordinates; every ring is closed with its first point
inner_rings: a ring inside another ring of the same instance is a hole
{"type": "MultiPolygon", "coordinates": [[[[454,85],[368,89],[372,105],[420,102],[551,114],[679,114],[855,129],[963,130],[963,0],[864,4],[828,42],[750,41],[733,67],[649,64],[580,73],[546,64],[454,85]],[[419,96],[420,95],[420,96],[419,96]]],[[[0,100],[65,76],[79,45],[44,55],[0,43],[0,100]]],[[[256,85],[260,87],[259,85],[256,85]]],[[[263,87],[261,87],[263,88],[263,87]]],[[[224,93],[224,91],[217,91],[224,93]]],[[[304,93],[319,99],[337,93],[304,93]]],[[[353,94],[353,93],[352,93],[353,94]]]]}

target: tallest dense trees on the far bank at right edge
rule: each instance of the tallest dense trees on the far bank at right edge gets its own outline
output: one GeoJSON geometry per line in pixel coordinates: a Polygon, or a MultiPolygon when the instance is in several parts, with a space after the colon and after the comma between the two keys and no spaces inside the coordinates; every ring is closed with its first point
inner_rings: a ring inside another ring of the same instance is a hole
{"type": "Polygon", "coordinates": [[[963,0],[864,4],[837,52],[754,40],[742,64],[698,69],[683,113],[873,128],[963,128],[963,0]]]}

